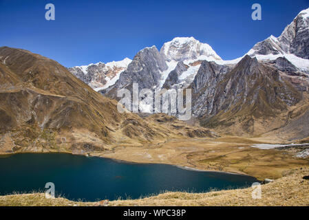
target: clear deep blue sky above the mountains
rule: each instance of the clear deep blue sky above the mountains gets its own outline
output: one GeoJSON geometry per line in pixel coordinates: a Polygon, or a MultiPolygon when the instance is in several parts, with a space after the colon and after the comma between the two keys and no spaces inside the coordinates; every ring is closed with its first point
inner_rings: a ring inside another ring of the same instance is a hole
{"type": "Polygon", "coordinates": [[[72,67],[133,58],[144,47],[160,50],[175,36],[193,36],[227,60],[279,36],[306,8],[309,0],[0,0],[0,46],[72,67]],[[45,20],[47,3],[55,5],[55,21],[45,20]],[[262,5],[262,21],[251,19],[253,3],[262,5]]]}

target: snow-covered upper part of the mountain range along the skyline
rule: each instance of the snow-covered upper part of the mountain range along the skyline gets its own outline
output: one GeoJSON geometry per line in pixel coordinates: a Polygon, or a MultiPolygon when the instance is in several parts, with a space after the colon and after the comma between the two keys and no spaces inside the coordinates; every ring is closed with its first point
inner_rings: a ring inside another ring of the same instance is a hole
{"type": "MultiPolygon", "coordinates": [[[[245,55],[256,57],[257,60],[267,63],[275,62],[277,66],[284,65],[286,67],[288,65],[295,71],[309,74],[308,26],[309,9],[299,12],[297,17],[284,29],[278,38],[271,35],[268,39],[254,45],[245,55]],[[283,63],[284,60],[282,58],[285,58],[287,61],[283,63]]],[[[71,67],[69,70],[72,74],[96,89],[96,91],[101,90],[105,92],[105,90],[110,90],[108,87],[114,86],[117,80],[122,80],[121,78],[126,77],[125,71],[131,62],[131,65],[137,65],[136,62],[138,61],[145,65],[146,68],[155,63],[156,65],[158,64],[158,68],[145,69],[144,71],[149,72],[151,76],[156,78],[156,82],[151,84],[153,87],[156,86],[157,89],[160,89],[164,83],[168,83],[165,81],[178,63],[183,62],[187,70],[179,73],[178,80],[174,80],[177,82],[177,85],[187,87],[198,73],[201,61],[213,61],[219,65],[236,65],[244,56],[232,61],[223,61],[210,45],[200,43],[200,41],[195,40],[193,37],[176,37],[172,41],[164,43],[160,51],[156,46],[146,47],[136,54],[134,62],[129,58],[125,58],[123,61],[107,63],[106,65],[104,63],[96,63],[71,67]],[[138,60],[141,56],[148,56],[147,59],[149,58],[149,60],[138,60]],[[152,60],[150,56],[153,57],[152,60]],[[114,69],[114,74],[107,72],[107,67],[114,69]],[[124,73],[121,74],[121,72],[124,73]]],[[[131,68],[133,67],[130,67],[127,72],[130,72],[131,68]]],[[[283,67],[279,68],[282,69],[283,67]]],[[[176,85],[176,83],[173,83],[173,85],[176,85]]]]}

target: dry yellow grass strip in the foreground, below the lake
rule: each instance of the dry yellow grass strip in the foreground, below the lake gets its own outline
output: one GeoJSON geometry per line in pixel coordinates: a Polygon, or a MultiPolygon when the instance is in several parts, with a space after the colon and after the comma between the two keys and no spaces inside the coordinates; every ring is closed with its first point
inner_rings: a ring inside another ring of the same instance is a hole
{"type": "MultiPolygon", "coordinates": [[[[261,199],[253,188],[207,193],[165,192],[153,197],[109,201],[108,206],[309,206],[309,168],[289,170],[285,177],[262,185],[261,199]]],[[[45,199],[43,193],[0,196],[0,206],[96,206],[96,202],[45,199]]],[[[103,207],[104,208],[104,207],[103,207]]]]}

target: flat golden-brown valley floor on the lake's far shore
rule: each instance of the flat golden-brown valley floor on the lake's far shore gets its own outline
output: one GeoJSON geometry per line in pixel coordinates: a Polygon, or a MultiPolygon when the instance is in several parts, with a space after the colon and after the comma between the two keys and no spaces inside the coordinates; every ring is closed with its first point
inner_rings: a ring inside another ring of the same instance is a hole
{"type": "MultiPolygon", "coordinates": [[[[173,164],[200,170],[251,175],[259,180],[277,179],[288,170],[309,166],[296,157],[303,149],[260,149],[253,144],[282,143],[267,137],[219,137],[215,139],[167,140],[149,146],[115,146],[111,151],[91,153],[136,163],[173,164]]],[[[309,148],[309,146],[308,146],[309,148]]]]}

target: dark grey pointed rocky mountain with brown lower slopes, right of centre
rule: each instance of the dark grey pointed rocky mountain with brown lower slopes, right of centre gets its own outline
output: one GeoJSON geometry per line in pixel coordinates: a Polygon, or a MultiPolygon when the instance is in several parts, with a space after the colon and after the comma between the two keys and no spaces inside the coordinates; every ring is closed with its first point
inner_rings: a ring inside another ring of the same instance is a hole
{"type": "Polygon", "coordinates": [[[282,78],[278,69],[248,55],[230,71],[219,69],[204,61],[193,81],[193,113],[204,126],[237,124],[238,134],[252,134],[256,121],[276,118],[302,100],[301,91],[282,78]]]}

